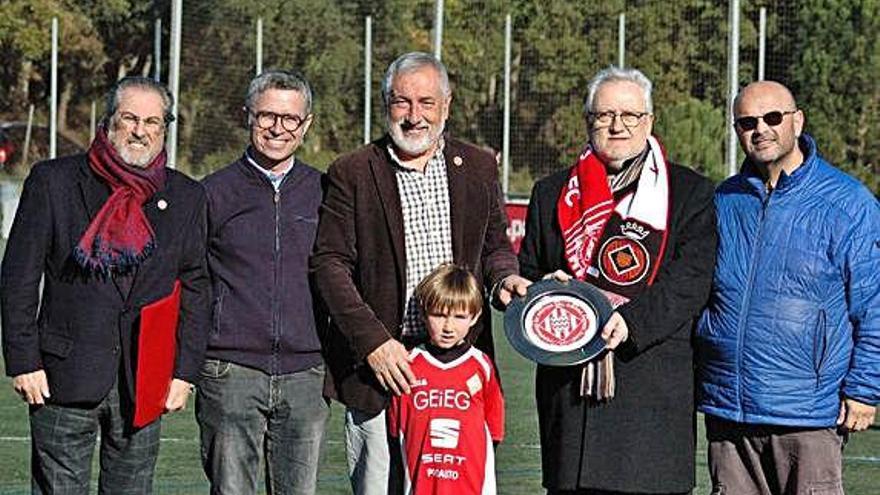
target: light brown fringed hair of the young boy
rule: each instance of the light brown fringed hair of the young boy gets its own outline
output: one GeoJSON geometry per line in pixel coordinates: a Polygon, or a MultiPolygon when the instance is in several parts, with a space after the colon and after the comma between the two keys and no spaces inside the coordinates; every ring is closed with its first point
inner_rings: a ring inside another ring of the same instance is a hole
{"type": "Polygon", "coordinates": [[[467,268],[444,263],[416,287],[416,298],[424,314],[465,310],[472,315],[483,309],[483,291],[467,268]]]}

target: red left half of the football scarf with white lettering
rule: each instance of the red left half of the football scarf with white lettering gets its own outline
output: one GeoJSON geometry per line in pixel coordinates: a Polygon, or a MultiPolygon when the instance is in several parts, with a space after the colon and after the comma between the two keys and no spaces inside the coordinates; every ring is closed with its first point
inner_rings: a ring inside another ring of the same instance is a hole
{"type": "Polygon", "coordinates": [[[614,211],[605,164],[589,145],[571,168],[557,202],[559,226],[565,242],[565,260],[572,275],[583,280],[605,224],[614,211]]]}

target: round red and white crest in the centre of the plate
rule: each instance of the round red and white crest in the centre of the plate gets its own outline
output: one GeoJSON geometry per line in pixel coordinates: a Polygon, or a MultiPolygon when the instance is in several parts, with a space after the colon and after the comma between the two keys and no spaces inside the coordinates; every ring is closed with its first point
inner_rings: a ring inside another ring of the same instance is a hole
{"type": "Polygon", "coordinates": [[[585,301],[568,296],[548,296],[526,313],[528,339],[547,351],[566,352],[583,347],[596,334],[596,313],[585,301]]]}

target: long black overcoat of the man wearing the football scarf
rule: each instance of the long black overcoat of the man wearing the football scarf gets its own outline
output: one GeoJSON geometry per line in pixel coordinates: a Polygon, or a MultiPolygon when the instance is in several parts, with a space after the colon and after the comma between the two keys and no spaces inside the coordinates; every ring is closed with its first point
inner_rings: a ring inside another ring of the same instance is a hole
{"type": "MultiPolygon", "coordinates": [[[[519,253],[536,280],[566,268],[557,220],[569,170],[535,184],[519,253]]],[[[669,232],[654,284],[618,308],[629,339],[615,352],[616,394],[589,405],[581,366],[538,366],[535,394],[543,484],[552,490],[689,492],[694,486],[691,331],[706,303],[715,263],[712,184],[670,164],[669,232]]]]}

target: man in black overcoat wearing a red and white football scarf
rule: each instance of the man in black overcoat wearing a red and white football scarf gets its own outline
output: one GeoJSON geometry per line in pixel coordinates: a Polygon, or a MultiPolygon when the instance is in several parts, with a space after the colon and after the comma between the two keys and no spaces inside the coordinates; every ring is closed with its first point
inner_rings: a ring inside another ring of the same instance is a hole
{"type": "Polygon", "coordinates": [[[712,281],[712,185],[670,163],[651,134],[651,82],[610,68],[590,82],[590,142],[535,184],[519,254],[524,276],[577,278],[615,307],[608,351],[539,366],[543,484],[551,494],[690,493],[691,331],[712,281]]]}

